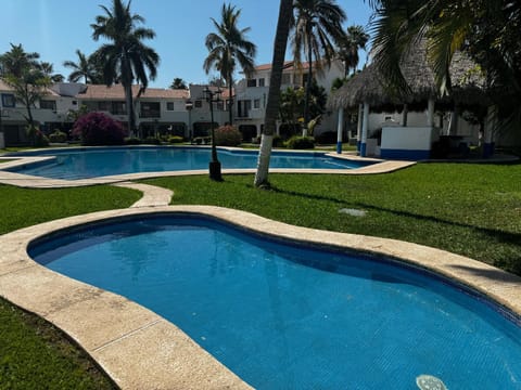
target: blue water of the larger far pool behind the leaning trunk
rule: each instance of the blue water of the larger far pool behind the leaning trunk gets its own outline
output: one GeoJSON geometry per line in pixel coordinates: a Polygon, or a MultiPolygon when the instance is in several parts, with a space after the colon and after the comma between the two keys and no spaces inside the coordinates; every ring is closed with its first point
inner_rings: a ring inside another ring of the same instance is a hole
{"type": "MultiPolygon", "coordinates": [[[[136,172],[208,169],[209,148],[198,147],[110,147],[99,150],[54,150],[12,155],[56,156],[46,164],[25,165],[11,171],[53,179],[88,179],[136,172]]],[[[257,151],[218,151],[223,169],[255,168],[257,151]]],[[[274,152],[271,168],[353,169],[369,165],[326,157],[325,153],[274,152]]]]}

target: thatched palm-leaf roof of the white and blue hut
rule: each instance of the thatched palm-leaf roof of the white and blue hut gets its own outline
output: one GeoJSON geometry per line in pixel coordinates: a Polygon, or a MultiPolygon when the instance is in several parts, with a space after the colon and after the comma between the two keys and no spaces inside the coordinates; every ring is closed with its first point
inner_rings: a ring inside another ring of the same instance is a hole
{"type": "Polygon", "coordinates": [[[455,53],[449,68],[453,84],[450,96],[442,99],[427,57],[427,40],[421,40],[406,53],[401,64],[402,73],[410,87],[410,93],[406,95],[391,93],[385,87],[382,74],[374,64],[370,64],[335,91],[328,104],[333,109],[355,107],[363,102],[378,107],[424,102],[429,98],[435,98],[439,101],[486,105],[484,78],[479,73],[469,72],[474,67],[475,63],[465,53],[455,53]]]}

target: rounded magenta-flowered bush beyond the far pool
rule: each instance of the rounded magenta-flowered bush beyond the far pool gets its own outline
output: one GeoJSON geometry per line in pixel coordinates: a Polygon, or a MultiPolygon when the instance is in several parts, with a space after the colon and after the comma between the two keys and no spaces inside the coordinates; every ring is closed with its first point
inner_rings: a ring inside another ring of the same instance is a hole
{"type": "Polygon", "coordinates": [[[122,123],[102,113],[89,113],[74,123],[73,134],[84,145],[123,145],[125,129],[122,123]]]}

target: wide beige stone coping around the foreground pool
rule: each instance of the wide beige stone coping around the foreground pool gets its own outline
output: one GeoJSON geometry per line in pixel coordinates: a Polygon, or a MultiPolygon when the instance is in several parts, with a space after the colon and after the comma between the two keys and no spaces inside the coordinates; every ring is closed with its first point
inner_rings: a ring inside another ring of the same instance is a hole
{"type": "Polygon", "coordinates": [[[521,277],[444,250],[396,239],[300,227],[214,206],[160,206],[99,211],[0,236],[0,296],[63,329],[122,389],[250,389],[182,330],[150,310],[48,270],[27,245],[56,230],[105,219],[203,214],[282,238],[385,256],[432,271],[485,295],[521,317],[521,277]]]}

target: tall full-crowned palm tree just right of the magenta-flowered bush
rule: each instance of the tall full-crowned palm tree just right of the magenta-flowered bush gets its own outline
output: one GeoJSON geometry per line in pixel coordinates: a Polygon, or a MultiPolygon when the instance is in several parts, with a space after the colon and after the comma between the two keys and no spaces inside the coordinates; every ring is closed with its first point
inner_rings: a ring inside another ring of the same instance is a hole
{"type": "Polygon", "coordinates": [[[92,38],[105,38],[112,43],[104,43],[94,52],[94,57],[102,61],[103,78],[106,86],[119,81],[125,90],[125,100],[128,114],[128,127],[131,132],[136,130],[136,117],[132,103],[132,82],[141,83],[144,91],[151,80],[157,75],[160,56],[143,39],[153,39],[155,32],[150,28],[137,27],[144,23],[144,18],[130,13],[130,1],[125,5],[122,0],[113,0],[112,9],[100,5],[105,15],[96,17],[92,38]],[[147,75],[149,70],[149,76],[147,75]]]}

